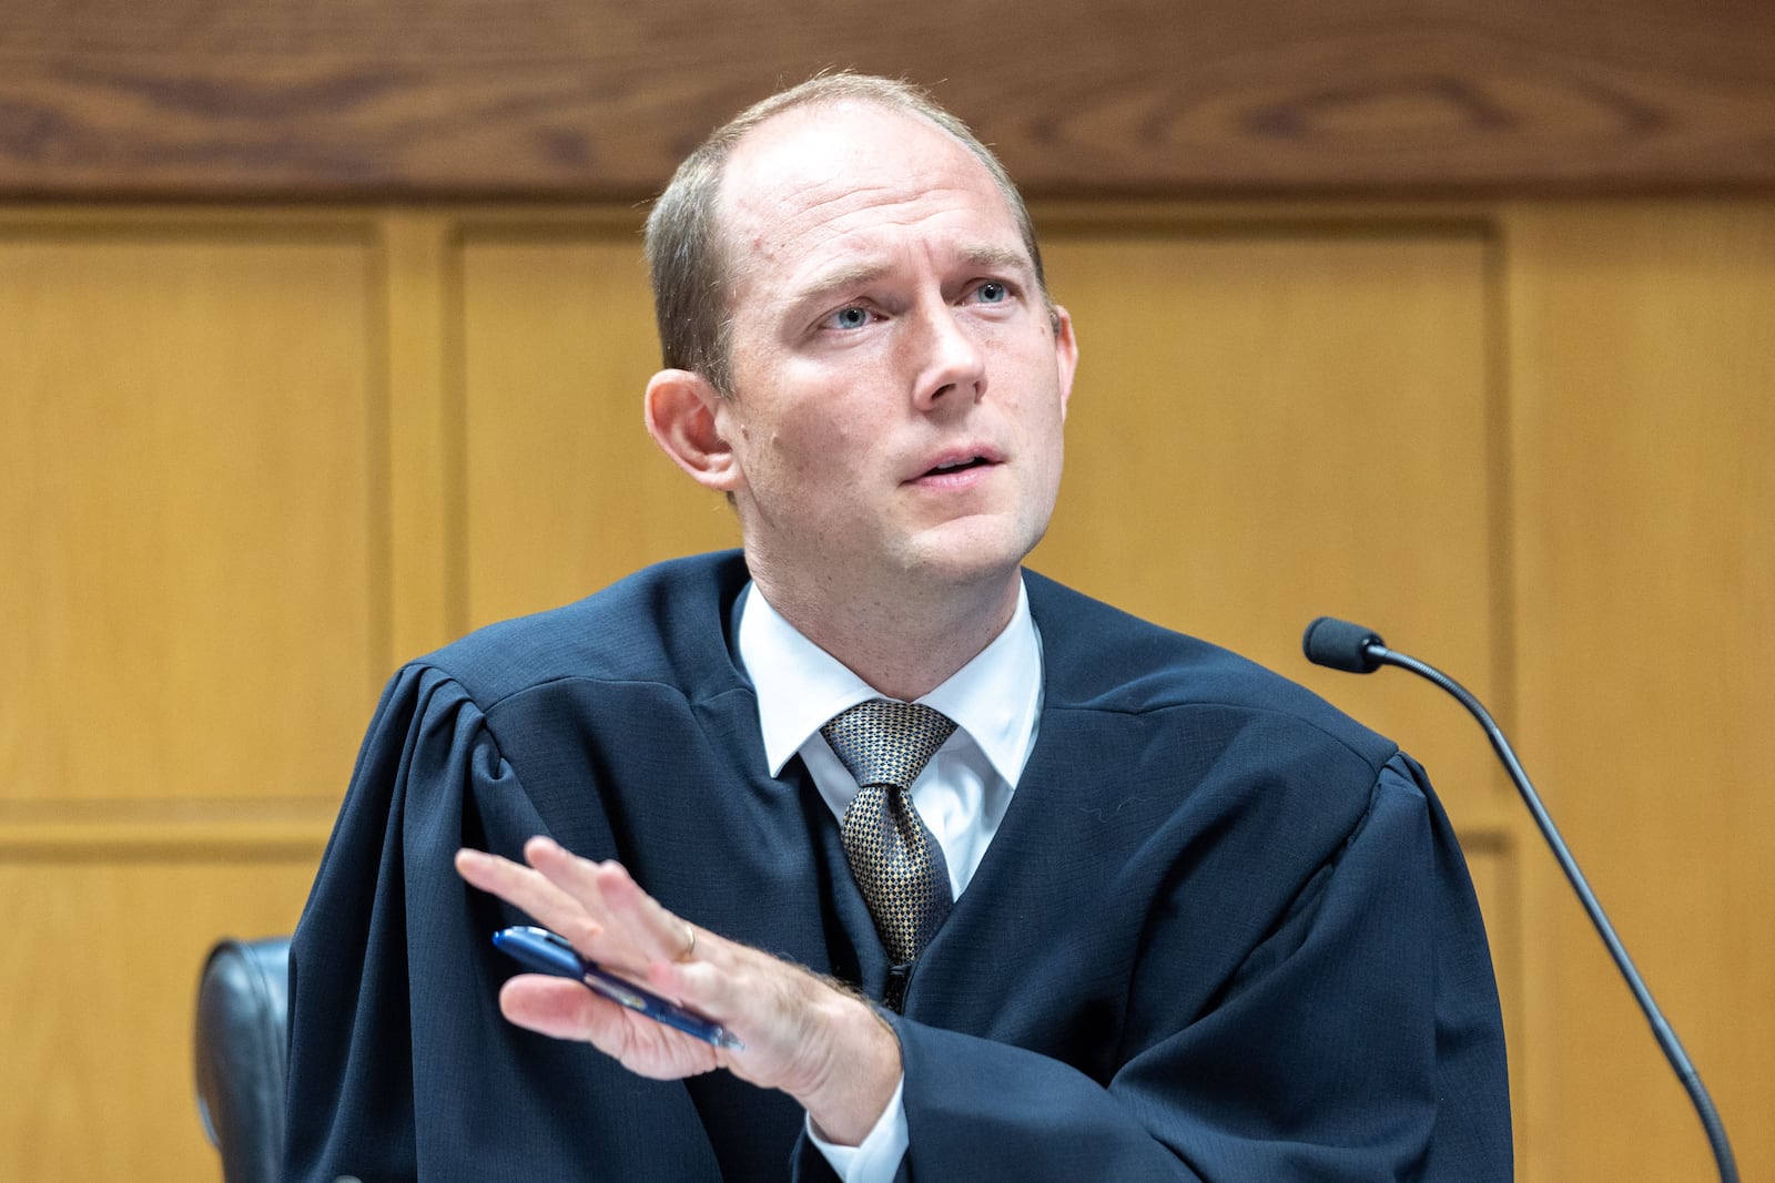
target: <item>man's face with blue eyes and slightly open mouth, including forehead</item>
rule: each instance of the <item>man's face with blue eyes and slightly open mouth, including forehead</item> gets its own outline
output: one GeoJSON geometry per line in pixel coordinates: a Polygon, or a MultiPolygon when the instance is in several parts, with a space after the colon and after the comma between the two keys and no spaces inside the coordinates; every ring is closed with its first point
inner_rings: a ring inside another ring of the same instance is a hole
{"type": "Polygon", "coordinates": [[[820,105],[737,147],[719,209],[715,426],[753,573],[818,594],[1014,580],[1077,355],[992,176],[923,119],[820,105]]]}

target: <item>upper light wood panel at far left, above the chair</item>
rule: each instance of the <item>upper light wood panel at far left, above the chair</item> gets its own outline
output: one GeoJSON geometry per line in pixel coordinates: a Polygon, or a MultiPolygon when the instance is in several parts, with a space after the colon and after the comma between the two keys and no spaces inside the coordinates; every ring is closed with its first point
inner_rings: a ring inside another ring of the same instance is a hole
{"type": "Polygon", "coordinates": [[[0,223],[0,800],[302,796],[373,702],[367,243],[0,223]]]}

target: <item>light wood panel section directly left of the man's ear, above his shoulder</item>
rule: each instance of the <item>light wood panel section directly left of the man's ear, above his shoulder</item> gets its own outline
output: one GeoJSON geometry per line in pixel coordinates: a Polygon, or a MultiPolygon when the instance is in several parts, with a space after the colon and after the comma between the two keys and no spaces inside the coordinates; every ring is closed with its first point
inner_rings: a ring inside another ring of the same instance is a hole
{"type": "Polygon", "coordinates": [[[469,624],[738,544],[641,422],[660,362],[635,222],[470,223],[460,268],[469,624]]]}

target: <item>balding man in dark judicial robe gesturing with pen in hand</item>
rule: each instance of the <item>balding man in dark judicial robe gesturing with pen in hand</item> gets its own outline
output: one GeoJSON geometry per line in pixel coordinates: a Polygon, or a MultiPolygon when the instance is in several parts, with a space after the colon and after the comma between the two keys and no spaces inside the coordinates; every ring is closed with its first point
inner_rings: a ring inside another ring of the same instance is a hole
{"type": "Polygon", "coordinates": [[[1422,772],[1022,571],[1077,346],[990,153],[820,78],[648,229],[646,422],[744,552],[390,683],[293,949],[289,1176],[1509,1178],[1422,772]],[[859,708],[941,720],[907,784],[859,708]],[[511,977],[522,922],[742,1046],[511,977]]]}

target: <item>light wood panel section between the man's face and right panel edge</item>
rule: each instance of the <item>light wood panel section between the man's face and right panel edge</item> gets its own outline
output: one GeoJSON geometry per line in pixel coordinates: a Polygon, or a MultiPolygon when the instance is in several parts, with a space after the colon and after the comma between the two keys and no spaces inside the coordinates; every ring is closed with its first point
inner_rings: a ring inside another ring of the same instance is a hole
{"type": "Polygon", "coordinates": [[[1308,621],[1344,615],[1493,688],[1484,225],[1061,222],[1044,250],[1081,364],[1060,511],[1031,566],[1306,681],[1489,821],[1464,715],[1299,649],[1308,621]]]}

